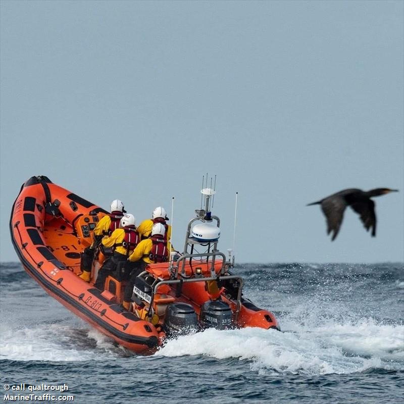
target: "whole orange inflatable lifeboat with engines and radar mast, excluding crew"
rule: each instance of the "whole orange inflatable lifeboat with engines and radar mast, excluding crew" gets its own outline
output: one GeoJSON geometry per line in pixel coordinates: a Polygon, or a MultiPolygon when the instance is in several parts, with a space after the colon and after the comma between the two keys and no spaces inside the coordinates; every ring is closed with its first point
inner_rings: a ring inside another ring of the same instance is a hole
{"type": "Polygon", "coordinates": [[[13,205],[12,242],[25,270],[48,294],[139,354],[152,353],[166,337],[190,330],[279,329],[272,313],[243,298],[242,278],[230,273],[233,263],[217,249],[220,221],[209,211],[214,191],[201,192],[206,209],[196,211],[189,222],[184,251],[170,262],[145,268],[136,278],[130,310],[121,306],[126,280],[109,276],[103,292],[93,286],[101,253],[95,255],[91,281],[79,278],[83,250],[93,241],[96,223],[108,213],[104,209],[45,176],[31,177],[13,205]],[[197,246],[205,252],[195,252],[197,246]]]}

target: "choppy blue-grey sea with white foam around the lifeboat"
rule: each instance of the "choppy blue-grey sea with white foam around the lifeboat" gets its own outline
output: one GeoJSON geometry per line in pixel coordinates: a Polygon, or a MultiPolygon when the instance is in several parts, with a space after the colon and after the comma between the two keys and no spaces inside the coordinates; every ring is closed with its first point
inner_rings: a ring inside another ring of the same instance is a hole
{"type": "Polygon", "coordinates": [[[30,390],[58,397],[57,386],[80,404],[404,402],[401,263],[245,264],[233,272],[282,332],[208,329],[141,357],[48,296],[19,263],[1,264],[0,402],[30,390]]]}

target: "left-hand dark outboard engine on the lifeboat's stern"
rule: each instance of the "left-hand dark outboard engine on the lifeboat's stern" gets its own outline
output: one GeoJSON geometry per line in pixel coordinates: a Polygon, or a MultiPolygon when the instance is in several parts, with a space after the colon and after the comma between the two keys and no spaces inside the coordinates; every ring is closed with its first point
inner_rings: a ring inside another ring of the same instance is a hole
{"type": "Polygon", "coordinates": [[[197,331],[198,319],[191,305],[173,303],[167,308],[163,330],[168,338],[197,331]]]}

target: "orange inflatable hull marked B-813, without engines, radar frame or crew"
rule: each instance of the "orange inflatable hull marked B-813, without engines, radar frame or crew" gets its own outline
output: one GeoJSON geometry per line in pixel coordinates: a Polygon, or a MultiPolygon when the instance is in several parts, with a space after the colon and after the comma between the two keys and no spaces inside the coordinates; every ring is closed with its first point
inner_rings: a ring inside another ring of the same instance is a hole
{"type": "MultiPolygon", "coordinates": [[[[161,326],[170,302],[190,304],[199,315],[204,302],[213,298],[221,298],[233,312],[237,311],[238,327],[278,328],[272,313],[248,300],[243,300],[237,308],[224,288],[212,295],[206,282],[184,283],[180,293],[175,287],[161,285],[154,302],[155,311],[160,315],[156,326],[136,311],[123,309],[120,303],[124,281],[110,276],[106,281],[107,290],[100,292],[93,286],[94,269],[90,283],[78,276],[81,254],[92,242],[96,223],[106,214],[102,208],[42,176],[31,177],[22,185],[10,219],[12,242],[26,272],[49,295],[100,332],[138,354],[150,354],[164,341],[161,326]]],[[[204,276],[210,275],[207,264],[198,265],[204,276]]],[[[216,262],[215,271],[219,273],[221,268],[222,262],[216,262]]],[[[162,281],[171,276],[168,263],[151,264],[146,271],[162,281]]],[[[190,262],[184,265],[183,271],[185,277],[194,275],[190,262]]]]}

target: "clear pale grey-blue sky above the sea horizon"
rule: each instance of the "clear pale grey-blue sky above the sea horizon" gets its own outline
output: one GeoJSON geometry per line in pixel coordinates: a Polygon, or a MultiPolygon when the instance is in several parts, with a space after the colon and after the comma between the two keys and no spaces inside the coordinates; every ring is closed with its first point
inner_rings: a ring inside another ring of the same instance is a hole
{"type": "Polygon", "coordinates": [[[236,262],[404,261],[404,2],[0,7],[1,261],[31,176],[137,223],[175,197],[182,250],[206,173],[236,262]],[[351,187],[400,192],[375,238],[348,209],[331,242],[306,205],[351,187]]]}

